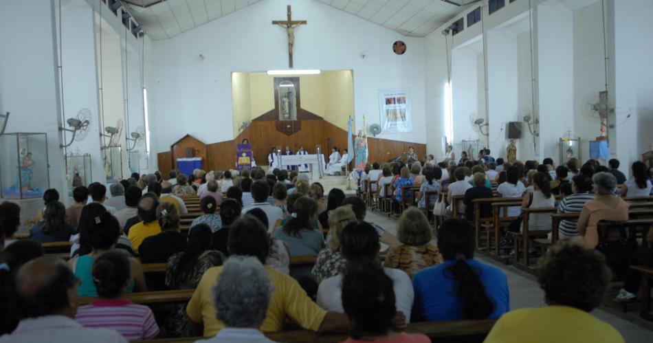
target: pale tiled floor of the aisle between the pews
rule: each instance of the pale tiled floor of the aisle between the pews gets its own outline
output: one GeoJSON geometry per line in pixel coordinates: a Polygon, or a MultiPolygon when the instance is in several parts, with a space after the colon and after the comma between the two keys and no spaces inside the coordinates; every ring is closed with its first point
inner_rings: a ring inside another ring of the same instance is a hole
{"type": "MultiPolygon", "coordinates": [[[[371,221],[381,225],[388,232],[397,233],[396,219],[388,219],[386,215],[379,212],[367,211],[366,221],[371,221]]],[[[382,247],[382,250],[386,247],[382,247]]],[[[508,278],[510,288],[510,307],[511,309],[521,309],[524,307],[541,307],[544,306],[544,294],[537,279],[531,274],[522,272],[511,265],[503,265],[487,258],[477,258],[485,263],[496,265],[505,272],[508,278]]],[[[595,309],[594,316],[612,324],[628,343],[651,343],[653,342],[653,322],[647,322],[639,318],[637,311],[628,311],[622,313],[611,307],[601,306],[595,309]]]]}

